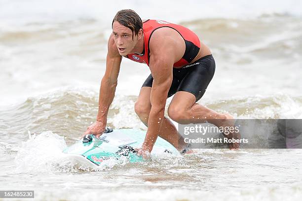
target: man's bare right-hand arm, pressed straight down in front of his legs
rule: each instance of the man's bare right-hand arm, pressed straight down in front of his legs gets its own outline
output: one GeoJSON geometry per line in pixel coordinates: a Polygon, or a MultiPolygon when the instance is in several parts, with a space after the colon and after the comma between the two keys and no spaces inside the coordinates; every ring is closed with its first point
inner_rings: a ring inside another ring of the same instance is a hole
{"type": "MultiPolygon", "coordinates": [[[[155,44],[154,42],[150,49],[155,44]]],[[[173,51],[173,44],[169,44],[169,41],[166,40],[157,46],[156,51],[154,48],[152,52],[155,53],[150,56],[150,70],[153,77],[150,95],[151,111],[148,130],[142,147],[142,151],[148,151],[149,153],[152,151],[164,118],[166,100],[173,79],[173,64],[175,61],[173,51]]]]}

